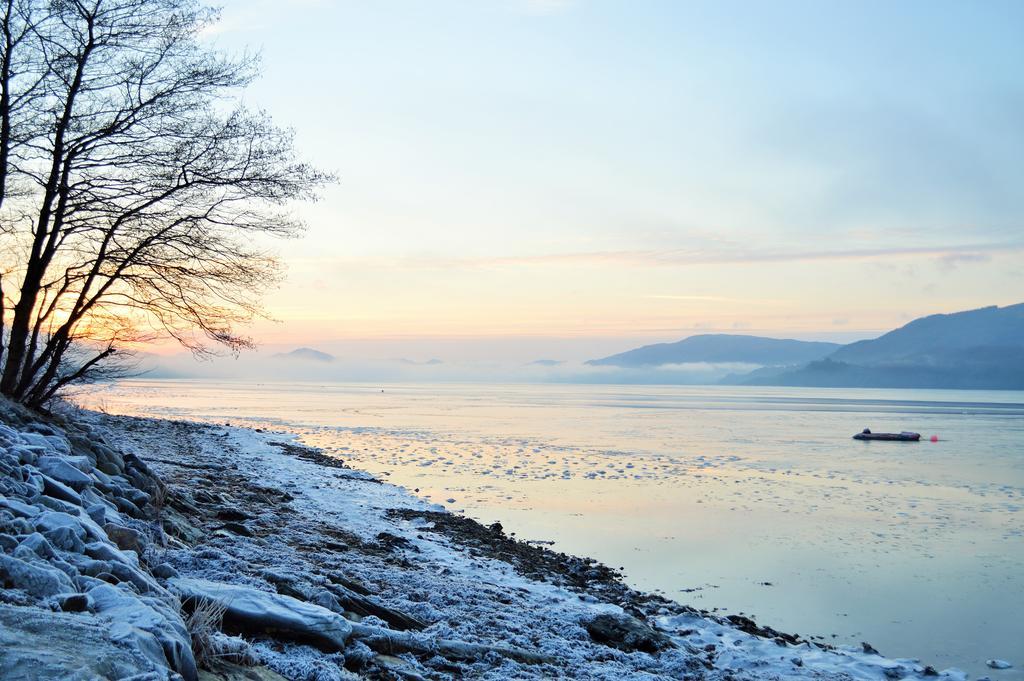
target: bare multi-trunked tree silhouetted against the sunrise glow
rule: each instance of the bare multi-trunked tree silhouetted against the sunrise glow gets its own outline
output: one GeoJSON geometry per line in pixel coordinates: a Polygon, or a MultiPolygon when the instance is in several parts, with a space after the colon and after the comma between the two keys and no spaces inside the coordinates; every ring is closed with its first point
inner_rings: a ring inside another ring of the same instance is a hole
{"type": "Polygon", "coordinates": [[[0,2],[0,392],[38,407],[155,334],[250,345],[259,237],[329,179],[238,103],[256,60],[195,0],[0,2]]]}

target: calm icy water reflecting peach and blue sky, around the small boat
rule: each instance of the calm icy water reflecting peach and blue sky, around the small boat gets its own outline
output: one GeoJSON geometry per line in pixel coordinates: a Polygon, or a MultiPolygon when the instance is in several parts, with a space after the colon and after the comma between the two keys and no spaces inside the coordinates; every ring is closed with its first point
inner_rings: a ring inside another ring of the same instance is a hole
{"type": "Polygon", "coordinates": [[[682,602],[1024,679],[1022,392],[127,381],[82,400],[289,429],[682,602]]]}

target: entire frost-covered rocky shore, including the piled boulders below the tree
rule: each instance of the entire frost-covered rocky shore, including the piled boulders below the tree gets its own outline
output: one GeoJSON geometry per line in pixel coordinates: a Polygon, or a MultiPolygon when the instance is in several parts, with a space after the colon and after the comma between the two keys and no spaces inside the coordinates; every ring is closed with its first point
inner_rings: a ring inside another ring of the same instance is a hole
{"type": "Polygon", "coordinates": [[[0,424],[4,679],[966,678],[638,593],[290,435],[0,424]]]}

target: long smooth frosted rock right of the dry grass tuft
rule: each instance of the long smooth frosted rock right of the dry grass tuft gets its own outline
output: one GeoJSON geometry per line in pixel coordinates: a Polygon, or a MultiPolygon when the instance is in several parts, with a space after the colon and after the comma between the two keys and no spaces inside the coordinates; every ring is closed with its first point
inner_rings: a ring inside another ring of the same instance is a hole
{"type": "Polygon", "coordinates": [[[242,631],[272,631],[329,650],[343,650],[352,633],[340,614],[291,596],[188,578],[175,578],[170,584],[186,607],[204,599],[220,603],[226,608],[224,624],[242,631]]]}

